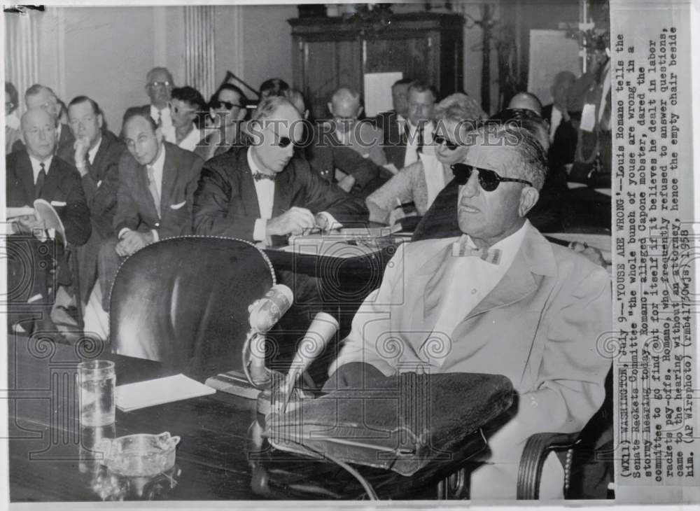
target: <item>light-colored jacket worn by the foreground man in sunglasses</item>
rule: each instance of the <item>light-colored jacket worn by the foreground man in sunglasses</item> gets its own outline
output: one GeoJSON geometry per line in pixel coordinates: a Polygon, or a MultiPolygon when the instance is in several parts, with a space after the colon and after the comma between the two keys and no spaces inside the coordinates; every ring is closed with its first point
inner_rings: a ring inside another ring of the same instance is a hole
{"type": "MultiPolygon", "coordinates": [[[[381,287],[353,319],[330,372],[360,361],[386,375],[416,365],[433,372],[505,374],[519,404],[489,438],[489,461],[510,463],[514,484],[528,436],[580,430],[603,402],[611,363],[601,349],[612,329],[610,278],[528,225],[512,265],[491,293],[454,331],[433,332],[455,239],[416,241],[397,251],[381,287]]],[[[469,276],[463,279],[468,285],[469,276]]]]}

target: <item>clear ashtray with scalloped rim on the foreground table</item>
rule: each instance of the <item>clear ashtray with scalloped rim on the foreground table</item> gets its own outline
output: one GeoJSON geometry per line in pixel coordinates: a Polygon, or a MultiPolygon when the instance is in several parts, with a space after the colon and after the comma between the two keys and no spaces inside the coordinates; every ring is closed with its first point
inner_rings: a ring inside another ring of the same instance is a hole
{"type": "Polygon", "coordinates": [[[167,431],[160,435],[127,435],[105,438],[96,450],[104,454],[104,465],[118,475],[151,477],[175,465],[175,447],[180,437],[167,431]]]}

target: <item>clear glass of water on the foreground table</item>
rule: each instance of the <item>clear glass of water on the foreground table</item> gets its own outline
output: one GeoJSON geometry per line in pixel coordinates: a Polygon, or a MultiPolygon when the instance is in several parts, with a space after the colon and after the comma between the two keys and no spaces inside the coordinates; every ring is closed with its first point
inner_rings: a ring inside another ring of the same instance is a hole
{"type": "Polygon", "coordinates": [[[80,426],[107,426],[114,422],[114,363],[90,360],[78,364],[80,426]]]}

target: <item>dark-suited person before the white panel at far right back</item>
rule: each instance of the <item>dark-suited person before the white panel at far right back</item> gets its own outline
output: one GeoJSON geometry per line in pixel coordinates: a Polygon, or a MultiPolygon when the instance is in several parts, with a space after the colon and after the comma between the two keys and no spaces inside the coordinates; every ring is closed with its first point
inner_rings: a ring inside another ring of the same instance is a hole
{"type": "Polygon", "coordinates": [[[549,167],[573,163],[578,132],[568,112],[569,91],[576,81],[571,71],[556,73],[552,81],[553,102],[542,107],[542,117],[549,123],[549,167]]]}

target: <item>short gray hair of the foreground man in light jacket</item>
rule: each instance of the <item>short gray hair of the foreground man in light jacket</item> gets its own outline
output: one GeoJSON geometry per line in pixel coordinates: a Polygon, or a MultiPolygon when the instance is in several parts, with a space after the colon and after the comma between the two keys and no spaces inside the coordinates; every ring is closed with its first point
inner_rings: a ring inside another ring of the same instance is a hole
{"type": "Polygon", "coordinates": [[[547,177],[547,154],[535,135],[525,127],[515,123],[487,123],[476,133],[484,138],[489,146],[510,148],[517,155],[517,172],[521,179],[532,183],[540,191],[547,177]]]}

